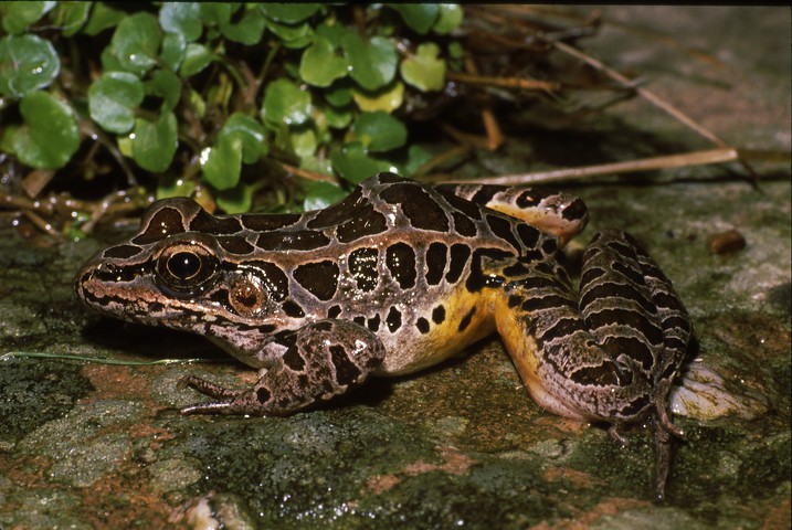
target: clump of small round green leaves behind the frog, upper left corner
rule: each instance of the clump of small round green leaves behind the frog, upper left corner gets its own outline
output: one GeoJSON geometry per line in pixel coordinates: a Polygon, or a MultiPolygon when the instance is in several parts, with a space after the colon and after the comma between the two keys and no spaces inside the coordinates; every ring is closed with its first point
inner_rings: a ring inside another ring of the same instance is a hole
{"type": "Polygon", "coordinates": [[[313,178],[306,208],[412,174],[430,155],[408,147],[408,102],[463,57],[455,4],[36,1],[0,18],[1,163],[110,190],[155,177],[159,198],[230,213],[278,173],[313,178]]]}

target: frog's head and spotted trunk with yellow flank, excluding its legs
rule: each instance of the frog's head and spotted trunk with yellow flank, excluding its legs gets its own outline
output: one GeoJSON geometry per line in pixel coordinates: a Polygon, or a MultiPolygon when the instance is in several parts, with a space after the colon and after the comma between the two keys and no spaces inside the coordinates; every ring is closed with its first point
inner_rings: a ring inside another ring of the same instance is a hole
{"type": "Polygon", "coordinates": [[[168,199],[75,285],[99,309],[201,332],[251,364],[270,335],[352,320],[382,339],[383,371],[413,371],[493,330],[481,293],[504,278],[490,264],[558,252],[557,237],[486,208],[498,190],[479,190],[485,204],[467,191],[380,173],[304,214],[213,216],[168,199]]]}

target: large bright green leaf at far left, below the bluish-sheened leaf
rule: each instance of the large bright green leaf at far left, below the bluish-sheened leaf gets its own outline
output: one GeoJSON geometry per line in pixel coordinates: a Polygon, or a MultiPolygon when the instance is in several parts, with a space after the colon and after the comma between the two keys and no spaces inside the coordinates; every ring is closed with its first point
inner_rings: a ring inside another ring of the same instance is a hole
{"type": "Polygon", "coordinates": [[[24,125],[13,135],[12,147],[20,161],[32,168],[57,169],[80,147],[80,130],[72,109],[49,92],[34,92],[19,106],[24,125]]]}

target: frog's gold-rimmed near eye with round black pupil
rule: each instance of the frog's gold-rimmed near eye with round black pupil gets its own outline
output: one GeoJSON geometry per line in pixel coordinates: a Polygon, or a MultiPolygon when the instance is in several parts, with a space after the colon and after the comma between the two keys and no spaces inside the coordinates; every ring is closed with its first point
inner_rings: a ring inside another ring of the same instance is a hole
{"type": "Polygon", "coordinates": [[[176,295],[197,295],[213,285],[218,265],[217,256],[203,245],[173,245],[157,258],[157,283],[176,295]]]}

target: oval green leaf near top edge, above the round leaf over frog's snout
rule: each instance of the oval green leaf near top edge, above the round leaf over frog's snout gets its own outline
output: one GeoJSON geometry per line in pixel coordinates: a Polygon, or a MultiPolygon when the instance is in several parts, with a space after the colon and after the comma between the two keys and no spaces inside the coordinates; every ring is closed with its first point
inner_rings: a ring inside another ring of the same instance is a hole
{"type": "Polygon", "coordinates": [[[109,49],[125,72],[140,77],[157,64],[161,41],[162,32],[157,19],[141,12],[118,23],[109,49]]]}

